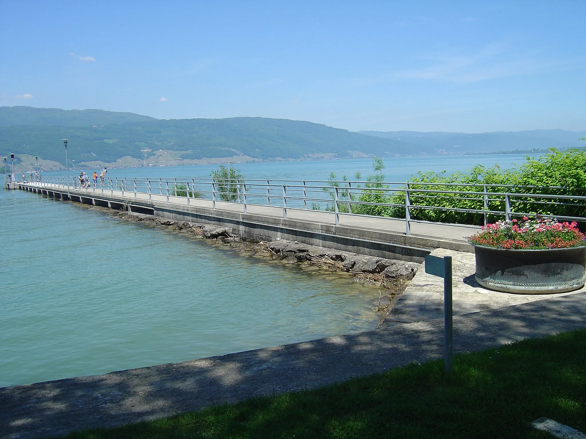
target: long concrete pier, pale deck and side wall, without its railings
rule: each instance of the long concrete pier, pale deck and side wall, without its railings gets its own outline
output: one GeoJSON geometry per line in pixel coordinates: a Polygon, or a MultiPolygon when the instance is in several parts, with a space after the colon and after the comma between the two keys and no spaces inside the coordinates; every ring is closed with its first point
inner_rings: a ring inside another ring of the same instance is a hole
{"type": "Polygon", "coordinates": [[[465,237],[479,230],[473,225],[420,223],[412,220],[406,234],[404,219],[369,217],[329,211],[259,204],[230,203],[202,198],[67,187],[62,184],[19,183],[19,188],[64,200],[124,208],[177,221],[214,224],[233,229],[244,238],[260,241],[287,239],[387,259],[423,262],[435,248],[473,252],[465,237]]]}

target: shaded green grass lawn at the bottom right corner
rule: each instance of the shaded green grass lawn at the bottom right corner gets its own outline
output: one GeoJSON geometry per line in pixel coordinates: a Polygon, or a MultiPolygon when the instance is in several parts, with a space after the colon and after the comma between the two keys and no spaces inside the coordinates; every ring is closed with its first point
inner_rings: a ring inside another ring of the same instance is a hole
{"type": "Polygon", "coordinates": [[[586,330],[413,364],[339,385],[67,438],[548,438],[541,416],[586,431],[586,330]]]}

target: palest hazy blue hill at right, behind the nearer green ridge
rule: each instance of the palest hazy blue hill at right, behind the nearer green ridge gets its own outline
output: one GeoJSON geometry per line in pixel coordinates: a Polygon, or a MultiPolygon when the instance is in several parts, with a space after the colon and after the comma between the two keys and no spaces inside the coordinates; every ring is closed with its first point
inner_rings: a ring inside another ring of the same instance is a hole
{"type": "Polygon", "coordinates": [[[360,131],[362,134],[405,142],[422,153],[462,154],[547,150],[548,148],[580,148],[586,131],[535,129],[533,131],[498,131],[489,133],[451,133],[417,131],[360,131]]]}

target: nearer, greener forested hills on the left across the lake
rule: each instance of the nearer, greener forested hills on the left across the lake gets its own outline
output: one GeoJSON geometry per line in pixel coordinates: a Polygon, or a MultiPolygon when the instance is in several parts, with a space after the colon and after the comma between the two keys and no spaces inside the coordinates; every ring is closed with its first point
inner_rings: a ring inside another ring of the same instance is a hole
{"type": "Polygon", "coordinates": [[[69,139],[69,157],[76,163],[114,162],[125,156],[142,160],[158,150],[180,152],[176,157],[190,160],[418,153],[404,142],[288,119],[161,120],[101,110],[0,107],[0,154],[24,153],[63,163],[63,138],[69,139]]]}

